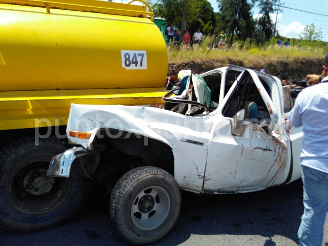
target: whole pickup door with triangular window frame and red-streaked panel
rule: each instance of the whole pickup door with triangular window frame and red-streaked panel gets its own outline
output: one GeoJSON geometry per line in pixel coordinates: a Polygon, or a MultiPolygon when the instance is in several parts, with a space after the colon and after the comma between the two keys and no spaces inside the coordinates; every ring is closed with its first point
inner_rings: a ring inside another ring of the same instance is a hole
{"type": "MultiPolygon", "coordinates": [[[[238,92],[237,85],[238,88],[240,85],[246,87],[247,83],[250,83],[253,89],[250,90],[253,91],[253,99],[255,96],[262,100],[262,109],[267,111],[267,115],[270,114],[270,119],[267,120],[273,122],[273,129],[280,117],[254,71],[243,71],[237,81],[224,97],[222,106],[217,109],[215,115],[202,190],[204,193],[262,190],[283,183],[288,176],[290,167],[288,150],[283,138],[275,138],[259,125],[249,121],[243,121],[245,130],[241,136],[232,135],[233,115],[224,116],[226,113],[223,111],[229,106],[228,104],[236,103],[232,101],[232,98],[236,95],[234,93],[238,92]]],[[[242,100],[247,101],[251,98],[248,95],[240,95],[240,89],[238,93],[238,100],[242,98],[241,103],[242,100]]]]}

